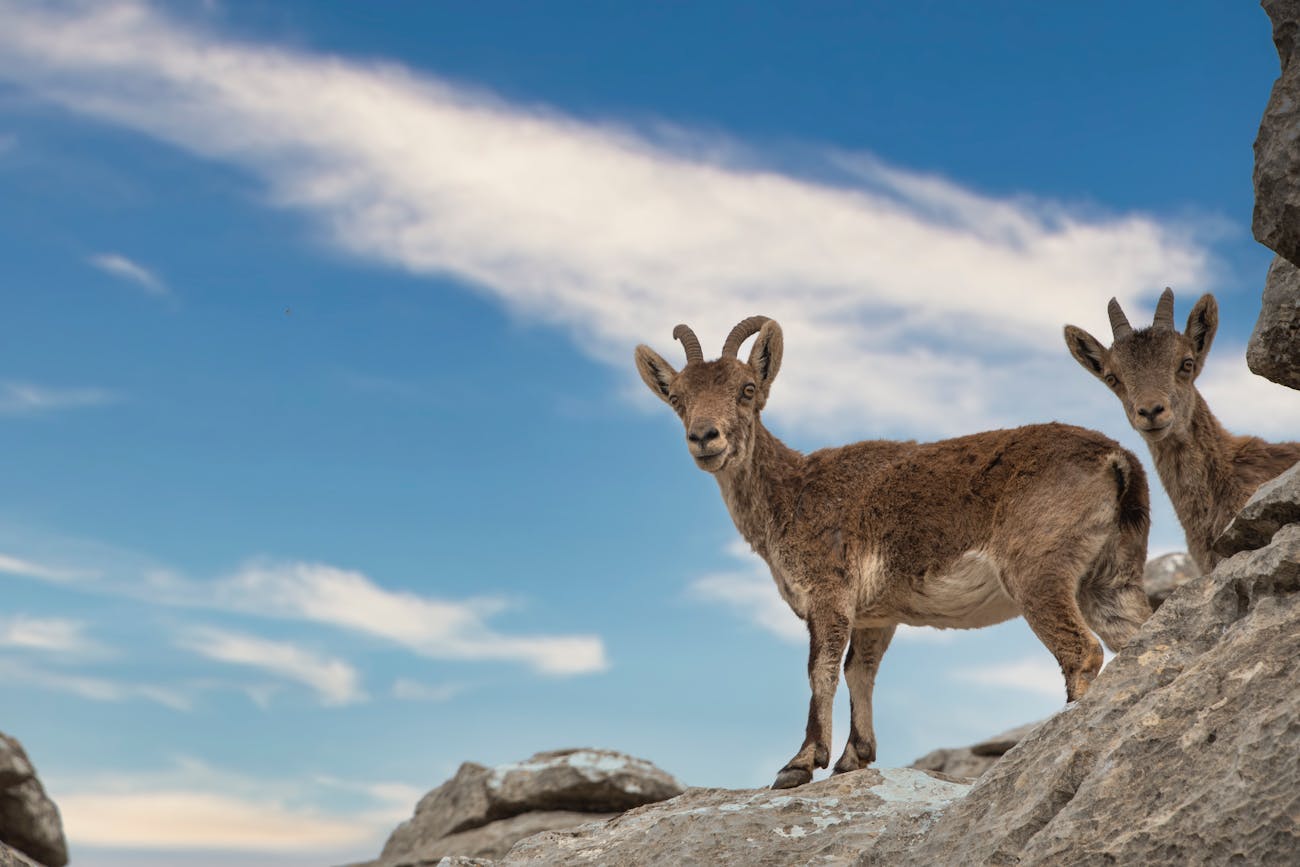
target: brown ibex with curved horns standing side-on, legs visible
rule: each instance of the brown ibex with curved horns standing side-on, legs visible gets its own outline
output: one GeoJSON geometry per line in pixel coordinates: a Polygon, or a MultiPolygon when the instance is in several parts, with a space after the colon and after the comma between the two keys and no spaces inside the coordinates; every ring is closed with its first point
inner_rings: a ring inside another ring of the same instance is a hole
{"type": "Polygon", "coordinates": [[[673,337],[685,368],[638,346],[641,378],[681,416],[696,465],[718,480],[737,529],[809,628],[807,731],[774,788],[828,764],[845,646],[852,731],[836,773],[875,759],[871,689],[897,624],[975,628],[1023,615],[1074,701],[1102,662],[1088,627],[1118,650],[1150,615],[1147,478],[1114,441],[1046,424],[803,455],[760,419],[781,367],[775,321],[742,321],[715,361],[685,325],[673,337]]]}

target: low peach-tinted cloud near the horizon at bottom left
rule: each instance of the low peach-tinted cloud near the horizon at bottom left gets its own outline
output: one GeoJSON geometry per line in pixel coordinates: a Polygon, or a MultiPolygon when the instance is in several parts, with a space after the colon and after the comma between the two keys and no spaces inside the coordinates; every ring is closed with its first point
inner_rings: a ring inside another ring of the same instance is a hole
{"type": "Polygon", "coordinates": [[[51,784],[74,846],[321,853],[335,859],[377,850],[420,794],[400,783],[254,779],[194,759],[157,773],[82,775],[51,784]],[[346,792],[355,805],[326,810],[322,789],[346,792]]]}

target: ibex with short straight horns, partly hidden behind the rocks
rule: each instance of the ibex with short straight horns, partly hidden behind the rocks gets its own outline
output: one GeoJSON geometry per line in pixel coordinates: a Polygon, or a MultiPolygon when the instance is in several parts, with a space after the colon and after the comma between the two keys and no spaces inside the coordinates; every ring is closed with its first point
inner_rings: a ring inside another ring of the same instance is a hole
{"type": "Polygon", "coordinates": [[[1074,325],[1065,326],[1066,346],[1124,406],[1128,424],[1150,448],[1192,558],[1209,572],[1219,560],[1214,539],[1260,485],[1300,460],[1300,443],[1228,433],[1197,391],[1218,329],[1213,295],[1201,295],[1182,334],[1174,328],[1171,289],[1161,294],[1149,328],[1135,330],[1114,298],[1109,313],[1109,350],[1074,325]]]}

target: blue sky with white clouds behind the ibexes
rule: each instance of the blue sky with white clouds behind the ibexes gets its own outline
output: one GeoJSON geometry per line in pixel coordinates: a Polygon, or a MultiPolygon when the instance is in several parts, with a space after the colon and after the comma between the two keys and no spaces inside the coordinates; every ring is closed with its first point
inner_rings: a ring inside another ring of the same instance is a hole
{"type": "MultiPolygon", "coordinates": [[[[0,14],[0,731],[79,864],[358,859],[559,746],[767,784],[803,640],[633,372],[679,321],[781,321],[801,448],[1147,458],[1061,325],[1213,291],[1212,407],[1300,424],[1243,355],[1253,4],[0,14]]],[[[1052,712],[1054,668],[1020,623],[900,636],[881,762],[1052,712]]]]}

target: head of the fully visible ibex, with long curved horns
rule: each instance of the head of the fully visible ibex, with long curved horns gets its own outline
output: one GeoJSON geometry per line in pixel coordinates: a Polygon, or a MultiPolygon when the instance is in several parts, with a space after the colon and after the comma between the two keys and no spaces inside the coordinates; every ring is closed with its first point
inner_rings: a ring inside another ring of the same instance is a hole
{"type": "Polygon", "coordinates": [[[716,361],[705,361],[699,339],[685,325],[675,328],[672,335],[686,350],[686,367],[677,372],[642,344],[636,352],[641,378],[681,416],[697,467],[716,473],[744,463],[754,445],[759,409],[781,367],[781,326],[766,316],[750,316],[727,335],[716,361]],[[740,344],[755,333],[749,361],[741,361],[740,344]]]}

